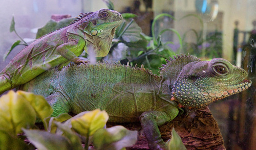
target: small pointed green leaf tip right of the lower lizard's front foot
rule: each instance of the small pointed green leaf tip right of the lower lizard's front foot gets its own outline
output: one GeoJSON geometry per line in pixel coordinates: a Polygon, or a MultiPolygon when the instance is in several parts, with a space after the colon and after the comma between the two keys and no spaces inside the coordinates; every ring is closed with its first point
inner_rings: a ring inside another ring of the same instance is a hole
{"type": "Polygon", "coordinates": [[[172,150],[185,150],[186,147],[182,143],[180,136],[177,134],[177,132],[174,130],[172,131],[172,139],[168,142],[168,148],[172,150]]]}

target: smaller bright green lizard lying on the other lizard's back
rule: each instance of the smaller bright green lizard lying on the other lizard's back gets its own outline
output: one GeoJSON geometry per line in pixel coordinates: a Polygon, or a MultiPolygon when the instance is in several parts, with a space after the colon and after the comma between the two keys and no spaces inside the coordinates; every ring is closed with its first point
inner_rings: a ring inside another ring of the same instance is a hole
{"type": "Polygon", "coordinates": [[[109,9],[81,13],[69,26],[47,34],[25,47],[0,72],[0,94],[27,83],[51,67],[66,62],[85,63],[78,56],[108,55],[122,15],[109,9]]]}

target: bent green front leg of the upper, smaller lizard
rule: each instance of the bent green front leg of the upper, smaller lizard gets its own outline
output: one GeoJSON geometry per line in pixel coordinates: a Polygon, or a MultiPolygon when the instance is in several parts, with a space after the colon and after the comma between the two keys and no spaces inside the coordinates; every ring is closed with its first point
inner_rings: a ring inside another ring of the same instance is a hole
{"type": "Polygon", "coordinates": [[[72,61],[74,63],[87,63],[78,56],[83,52],[86,41],[80,36],[76,36],[76,39],[71,39],[69,42],[59,45],[56,49],[58,54],[62,57],[72,61]]]}

